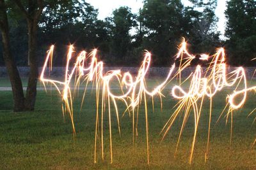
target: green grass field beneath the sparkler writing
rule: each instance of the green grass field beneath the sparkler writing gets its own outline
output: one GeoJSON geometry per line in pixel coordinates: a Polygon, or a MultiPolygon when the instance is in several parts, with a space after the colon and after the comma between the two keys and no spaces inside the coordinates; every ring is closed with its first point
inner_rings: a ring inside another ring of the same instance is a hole
{"type": "MultiPolygon", "coordinates": [[[[154,80],[151,80],[152,82],[154,80]]],[[[7,80],[0,81],[1,87],[9,86],[7,80]]],[[[154,83],[149,83],[154,86],[154,83]]],[[[83,90],[81,90],[81,93],[83,90]]],[[[174,157],[179,137],[182,115],[177,119],[168,136],[161,142],[161,129],[173,113],[177,100],[170,96],[170,89],[164,90],[163,110],[158,97],[148,99],[148,124],[150,143],[150,164],[147,164],[145,132],[145,111],[140,108],[138,136],[132,144],[132,118],[128,113],[122,117],[124,104],[119,104],[121,136],[118,132],[115,112],[112,112],[113,163],[109,154],[108,115],[104,118],[104,160],[97,148],[97,163],[94,158],[95,135],[95,93],[89,90],[80,111],[81,96],[74,102],[76,137],[68,115],[63,117],[61,97],[56,90],[38,91],[36,110],[13,113],[12,92],[0,92],[0,169],[256,169],[256,113],[248,117],[255,108],[256,96],[250,92],[242,110],[234,111],[233,133],[230,144],[230,118],[226,124],[225,107],[227,94],[224,90],[214,98],[212,106],[211,139],[209,158],[205,162],[207,131],[209,124],[209,103],[204,104],[198,127],[193,162],[189,154],[193,139],[193,114],[188,123],[174,157]]]]}

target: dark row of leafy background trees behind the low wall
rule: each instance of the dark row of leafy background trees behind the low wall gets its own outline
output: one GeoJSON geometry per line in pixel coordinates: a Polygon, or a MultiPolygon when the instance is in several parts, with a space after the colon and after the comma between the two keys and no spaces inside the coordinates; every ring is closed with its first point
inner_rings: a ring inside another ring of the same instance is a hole
{"type": "MultiPolygon", "coordinates": [[[[184,6],[180,0],[145,0],[138,13],[122,6],[104,20],[97,18],[98,11],[86,1],[46,4],[36,31],[39,65],[49,46],[54,44],[54,66],[63,66],[67,46],[74,44],[77,52],[98,48],[99,56],[109,66],[138,66],[144,50],[152,52],[154,66],[170,66],[182,37],[186,38],[189,51],[193,53],[214,53],[216,48],[224,46],[228,64],[255,65],[251,61],[256,57],[255,0],[228,1],[226,40],[221,40],[217,31],[217,0],[190,2],[191,6],[184,6]]],[[[27,66],[26,18],[13,13],[12,5],[7,7],[10,8],[7,15],[13,57],[18,66],[27,66]]],[[[1,47],[0,64],[3,66],[1,47]]]]}

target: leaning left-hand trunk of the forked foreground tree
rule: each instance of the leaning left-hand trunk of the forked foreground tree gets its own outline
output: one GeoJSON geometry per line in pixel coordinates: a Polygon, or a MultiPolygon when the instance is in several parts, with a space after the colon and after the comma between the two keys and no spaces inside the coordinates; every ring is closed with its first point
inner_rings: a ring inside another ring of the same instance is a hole
{"type": "Polygon", "coordinates": [[[19,71],[10,50],[9,27],[4,0],[0,0],[0,29],[2,33],[4,63],[12,85],[13,111],[22,111],[24,110],[24,93],[19,71]]]}

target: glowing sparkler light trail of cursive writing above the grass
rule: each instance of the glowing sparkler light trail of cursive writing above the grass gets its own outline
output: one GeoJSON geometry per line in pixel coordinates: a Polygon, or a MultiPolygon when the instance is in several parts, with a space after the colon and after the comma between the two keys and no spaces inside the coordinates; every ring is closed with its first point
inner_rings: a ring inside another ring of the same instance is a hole
{"type": "MultiPolygon", "coordinates": [[[[84,82],[84,94],[81,106],[84,101],[86,94],[86,89],[88,83],[92,82],[93,87],[95,87],[96,94],[96,113],[95,113],[95,150],[94,150],[94,162],[97,161],[97,138],[100,138],[101,145],[101,157],[104,159],[104,132],[103,132],[103,122],[104,114],[106,114],[106,107],[108,108],[108,122],[109,122],[109,145],[110,145],[110,158],[113,162],[113,151],[112,151],[112,134],[111,134],[111,108],[113,108],[117,124],[118,131],[120,132],[120,122],[119,122],[119,111],[117,101],[122,101],[127,109],[125,112],[129,113],[132,117],[132,132],[133,141],[134,135],[138,127],[138,114],[140,104],[143,103],[145,107],[145,129],[146,129],[146,139],[147,139],[147,162],[149,163],[149,139],[148,139],[148,107],[147,107],[147,97],[152,98],[154,106],[154,97],[159,96],[161,101],[163,97],[162,91],[166,85],[173,78],[178,77],[181,80],[182,71],[186,67],[190,66],[191,61],[195,59],[195,55],[191,55],[186,48],[186,41],[184,41],[179,46],[179,52],[176,55],[176,63],[170,67],[170,71],[166,78],[160,85],[157,85],[153,90],[147,89],[147,83],[145,78],[147,76],[150,62],[151,54],[150,52],[145,52],[145,57],[143,62],[138,69],[138,74],[134,77],[131,73],[125,72],[121,73],[120,69],[111,70],[104,72],[104,63],[98,61],[97,50],[93,50],[91,53],[81,52],[75,58],[74,64],[71,63],[71,59],[74,58],[74,46],[70,45],[67,55],[67,65],[65,69],[65,79],[64,81],[52,80],[50,78],[45,78],[45,72],[47,66],[49,65],[49,71],[52,69],[52,57],[54,46],[51,46],[50,50],[47,52],[47,57],[40,75],[40,80],[45,86],[45,83],[51,83],[56,87],[58,92],[62,96],[63,100],[63,114],[67,112],[70,115],[72,122],[72,128],[74,135],[76,134],[75,125],[73,120],[73,100],[74,92],[78,90],[81,86],[81,82],[84,82]],[[89,64],[88,64],[89,62],[89,64]],[[72,65],[71,65],[72,64],[72,65]],[[177,65],[177,66],[175,66],[177,65]],[[69,70],[70,66],[72,69],[69,70]],[[175,71],[177,67],[177,71],[175,71]],[[74,89],[71,87],[72,80],[74,79],[74,89]],[[111,82],[118,81],[118,88],[120,89],[120,94],[115,94],[111,89],[111,82]],[[74,92],[72,92],[74,90],[74,92]],[[143,102],[142,102],[143,101],[143,102]],[[137,121],[136,121],[137,120],[137,121]]],[[[191,154],[189,157],[189,162],[191,163],[193,159],[193,151],[196,142],[196,133],[198,129],[198,122],[200,120],[202,113],[202,108],[205,100],[210,101],[209,109],[209,130],[207,138],[207,150],[205,153],[205,160],[209,152],[209,138],[210,138],[210,126],[211,126],[211,113],[212,113],[212,98],[217,92],[220,92],[225,87],[234,87],[233,94],[227,96],[227,120],[228,117],[231,118],[231,133],[232,134],[232,111],[243,107],[246,101],[247,92],[251,90],[256,90],[256,86],[247,87],[246,73],[243,67],[238,67],[234,71],[227,73],[227,65],[225,64],[225,52],[223,48],[219,48],[217,52],[209,56],[207,54],[201,54],[200,60],[211,60],[209,61],[209,67],[203,71],[201,66],[196,66],[195,72],[191,73],[185,81],[189,81],[188,90],[182,88],[182,83],[180,81],[179,85],[175,85],[172,88],[172,96],[175,99],[179,99],[179,102],[175,106],[175,111],[171,115],[168,122],[163,127],[161,131],[163,133],[163,138],[166,136],[168,131],[170,131],[173,123],[179,115],[184,115],[182,121],[182,127],[180,128],[179,139],[177,141],[176,150],[179,146],[180,137],[182,136],[182,131],[186,125],[190,113],[193,113],[195,121],[195,130],[193,136],[193,143],[191,146],[191,154]],[[243,87],[241,89],[241,87],[243,87]],[[240,88],[239,90],[237,90],[240,88]],[[241,97],[240,101],[237,102],[237,98],[241,97]]],[[[225,109],[224,109],[225,110],[225,109]]],[[[223,112],[224,112],[223,110],[223,112]]],[[[221,113],[222,115],[222,113],[221,113]]],[[[220,116],[221,117],[221,116],[220,116]]],[[[230,140],[232,135],[230,135],[230,140]]],[[[256,140],[255,140],[256,141],[256,140]]],[[[254,141],[254,143],[255,143],[254,141]]]]}

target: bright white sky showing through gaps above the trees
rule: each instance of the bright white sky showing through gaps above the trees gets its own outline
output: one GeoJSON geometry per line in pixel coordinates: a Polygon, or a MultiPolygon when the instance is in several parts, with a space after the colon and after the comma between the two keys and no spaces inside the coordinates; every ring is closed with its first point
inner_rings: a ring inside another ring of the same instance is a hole
{"type": "MultiPolygon", "coordinates": [[[[225,15],[224,11],[226,9],[227,0],[218,0],[217,8],[216,8],[216,16],[219,18],[218,21],[218,31],[221,34],[225,32],[225,15]]],[[[120,6],[128,6],[131,8],[132,13],[137,13],[140,8],[142,8],[143,3],[142,0],[87,0],[86,2],[92,4],[92,6],[99,10],[99,19],[104,19],[109,17],[113,10],[119,8],[120,6]]],[[[182,0],[182,3],[185,6],[189,6],[188,0],[182,0]]]]}

